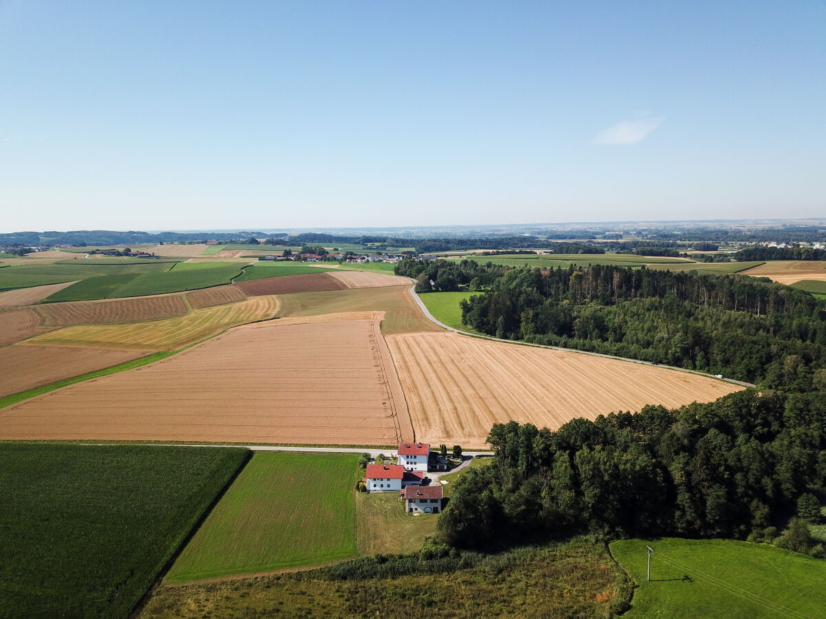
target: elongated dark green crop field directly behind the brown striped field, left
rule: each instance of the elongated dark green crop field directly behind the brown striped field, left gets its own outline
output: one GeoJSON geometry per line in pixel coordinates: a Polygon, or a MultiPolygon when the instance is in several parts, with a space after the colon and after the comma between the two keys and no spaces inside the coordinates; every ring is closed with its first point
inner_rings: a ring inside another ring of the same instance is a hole
{"type": "Polygon", "coordinates": [[[116,299],[192,291],[229,284],[241,272],[241,265],[231,262],[172,262],[171,265],[168,262],[165,267],[169,270],[90,277],[56,292],[43,302],[116,299]]]}

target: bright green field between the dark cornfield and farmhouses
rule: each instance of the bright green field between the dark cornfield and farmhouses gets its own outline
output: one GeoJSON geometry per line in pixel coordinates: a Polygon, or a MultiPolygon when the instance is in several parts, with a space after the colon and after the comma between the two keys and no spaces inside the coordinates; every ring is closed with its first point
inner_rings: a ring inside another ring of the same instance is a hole
{"type": "Polygon", "coordinates": [[[358,454],[256,453],[169,570],[181,583],[357,555],[358,454]]]}

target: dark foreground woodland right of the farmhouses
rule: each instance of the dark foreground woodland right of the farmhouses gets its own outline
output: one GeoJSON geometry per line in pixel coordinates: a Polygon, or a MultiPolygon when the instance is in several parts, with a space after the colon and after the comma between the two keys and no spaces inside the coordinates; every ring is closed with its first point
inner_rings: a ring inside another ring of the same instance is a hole
{"type": "Polygon", "coordinates": [[[819,518],[810,489],[826,484],[823,390],[745,390],[677,410],[574,419],[556,432],[496,424],[488,442],[496,461],[464,473],[439,516],[453,546],[590,531],[750,536],[823,554],[805,527],[802,539],[776,539],[795,512],[819,518]]]}

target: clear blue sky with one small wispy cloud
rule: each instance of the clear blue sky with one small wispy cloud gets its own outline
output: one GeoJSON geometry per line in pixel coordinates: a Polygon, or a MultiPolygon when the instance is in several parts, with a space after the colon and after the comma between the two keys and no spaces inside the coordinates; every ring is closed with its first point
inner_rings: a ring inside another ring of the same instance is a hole
{"type": "Polygon", "coordinates": [[[826,2],[565,4],[0,0],[0,228],[826,216],[826,2]]]}

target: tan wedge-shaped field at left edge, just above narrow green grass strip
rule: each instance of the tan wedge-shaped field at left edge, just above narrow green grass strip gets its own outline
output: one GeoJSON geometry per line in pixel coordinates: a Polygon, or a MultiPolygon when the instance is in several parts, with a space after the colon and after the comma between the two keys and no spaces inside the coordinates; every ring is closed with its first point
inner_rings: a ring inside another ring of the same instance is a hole
{"type": "Polygon", "coordinates": [[[144,357],[151,351],[17,344],[0,348],[0,398],[49,385],[57,380],[102,370],[144,357]]]}

